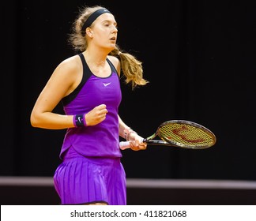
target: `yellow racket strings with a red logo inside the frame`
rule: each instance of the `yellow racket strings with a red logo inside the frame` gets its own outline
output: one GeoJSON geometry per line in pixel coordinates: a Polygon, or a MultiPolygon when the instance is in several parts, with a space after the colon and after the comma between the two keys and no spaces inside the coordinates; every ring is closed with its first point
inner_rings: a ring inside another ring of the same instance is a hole
{"type": "Polygon", "coordinates": [[[206,147],[215,143],[213,135],[205,129],[180,123],[163,125],[159,129],[159,137],[165,141],[184,146],[206,147]]]}

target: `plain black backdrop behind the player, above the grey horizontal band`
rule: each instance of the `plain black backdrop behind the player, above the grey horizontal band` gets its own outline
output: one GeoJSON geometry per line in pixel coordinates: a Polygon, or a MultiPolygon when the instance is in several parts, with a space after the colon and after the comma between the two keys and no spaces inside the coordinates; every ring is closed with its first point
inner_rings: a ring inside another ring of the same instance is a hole
{"type": "MultiPolygon", "coordinates": [[[[1,176],[52,176],[66,130],[32,128],[32,107],[59,62],[80,6],[119,23],[119,46],[143,62],[145,87],[122,82],[119,114],[147,137],[161,122],[211,129],[213,148],[123,152],[127,178],[256,179],[255,7],[249,1],[2,2],[1,176]]],[[[62,106],[56,110],[62,113],[62,106]]]]}

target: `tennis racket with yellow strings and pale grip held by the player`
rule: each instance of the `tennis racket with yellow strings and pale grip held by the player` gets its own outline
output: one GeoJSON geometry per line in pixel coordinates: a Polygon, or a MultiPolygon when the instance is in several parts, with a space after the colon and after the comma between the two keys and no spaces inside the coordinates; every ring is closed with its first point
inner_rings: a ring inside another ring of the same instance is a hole
{"type": "MultiPolygon", "coordinates": [[[[150,145],[164,145],[188,149],[210,148],[216,143],[212,131],[195,122],[171,120],[162,123],[150,137],[141,140],[150,145]],[[161,140],[153,140],[156,136],[161,140]]],[[[121,141],[122,150],[130,148],[130,141],[121,141]]]]}

